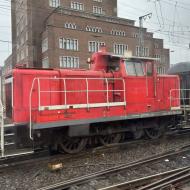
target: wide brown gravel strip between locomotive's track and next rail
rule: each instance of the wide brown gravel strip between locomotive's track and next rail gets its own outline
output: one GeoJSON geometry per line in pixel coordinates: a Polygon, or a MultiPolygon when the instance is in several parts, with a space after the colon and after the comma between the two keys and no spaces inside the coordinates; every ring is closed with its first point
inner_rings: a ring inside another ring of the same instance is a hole
{"type": "MultiPolygon", "coordinates": [[[[189,143],[190,138],[186,135],[183,137],[177,136],[175,138],[161,139],[159,142],[155,143],[147,141],[139,145],[129,144],[127,146],[121,146],[120,149],[110,148],[102,152],[100,151],[99,154],[86,154],[86,156],[84,155],[78,159],[69,159],[66,163],[63,163],[63,169],[58,172],[49,171],[47,162],[22,165],[7,169],[6,171],[0,171],[0,189],[35,190],[43,186],[101,171],[119,164],[130,163],[155,154],[161,154],[172,148],[181,147],[189,143]]],[[[172,162],[169,162],[168,164],[171,163],[172,162]]],[[[150,170],[154,171],[155,169],[150,168],[150,170]]],[[[135,170],[131,172],[137,175],[135,170]]],[[[145,171],[142,170],[141,173],[143,175],[145,171]]],[[[118,175],[114,180],[117,181],[119,179],[120,181],[122,178],[125,179],[125,176],[118,175]]],[[[98,185],[96,180],[91,183],[98,185]]],[[[106,185],[108,182],[105,181],[103,183],[106,185]]]]}

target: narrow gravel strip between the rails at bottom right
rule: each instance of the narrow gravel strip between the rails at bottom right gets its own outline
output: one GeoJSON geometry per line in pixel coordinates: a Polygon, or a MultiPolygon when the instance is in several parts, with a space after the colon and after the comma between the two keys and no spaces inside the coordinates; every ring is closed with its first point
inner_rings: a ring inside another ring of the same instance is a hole
{"type": "Polygon", "coordinates": [[[170,160],[161,160],[151,165],[145,164],[141,167],[134,167],[131,170],[123,170],[117,174],[111,174],[105,177],[105,179],[92,180],[88,184],[71,187],[70,190],[94,190],[103,187],[111,186],[126,181],[132,181],[135,179],[143,178],[150,175],[163,173],[169,170],[174,170],[179,167],[185,167],[190,163],[190,152],[183,155],[176,156],[170,160]]]}

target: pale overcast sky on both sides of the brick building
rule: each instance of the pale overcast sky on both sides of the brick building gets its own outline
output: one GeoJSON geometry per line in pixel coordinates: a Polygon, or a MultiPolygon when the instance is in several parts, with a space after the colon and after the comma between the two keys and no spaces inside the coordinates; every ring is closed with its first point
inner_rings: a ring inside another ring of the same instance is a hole
{"type": "MultiPolygon", "coordinates": [[[[111,0],[110,0],[111,1],[111,0]]],[[[118,0],[120,17],[132,19],[152,13],[144,21],[144,27],[163,38],[164,46],[170,48],[171,64],[190,61],[190,1],[189,0],[118,0]]],[[[10,1],[0,0],[0,65],[11,54],[10,1]]]]}

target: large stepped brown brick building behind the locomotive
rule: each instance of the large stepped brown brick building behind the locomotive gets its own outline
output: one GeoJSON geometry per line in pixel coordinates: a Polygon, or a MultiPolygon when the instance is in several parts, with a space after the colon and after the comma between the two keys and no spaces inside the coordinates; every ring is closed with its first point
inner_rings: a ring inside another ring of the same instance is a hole
{"type": "MultiPolygon", "coordinates": [[[[12,0],[13,64],[28,67],[86,68],[92,52],[139,55],[139,28],[117,17],[117,0],[12,0]]],[[[160,58],[158,71],[169,67],[162,39],[144,32],[144,56],[160,58]]]]}

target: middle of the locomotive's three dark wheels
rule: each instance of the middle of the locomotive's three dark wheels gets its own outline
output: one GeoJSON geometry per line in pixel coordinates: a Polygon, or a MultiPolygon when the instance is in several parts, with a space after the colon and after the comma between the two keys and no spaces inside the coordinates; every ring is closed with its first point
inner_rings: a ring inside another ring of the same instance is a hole
{"type": "Polygon", "coordinates": [[[122,137],[121,134],[103,135],[99,136],[99,141],[102,145],[114,144],[114,143],[119,143],[121,137],[122,137]]]}

